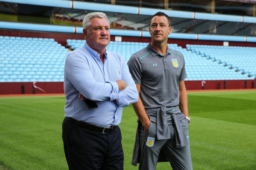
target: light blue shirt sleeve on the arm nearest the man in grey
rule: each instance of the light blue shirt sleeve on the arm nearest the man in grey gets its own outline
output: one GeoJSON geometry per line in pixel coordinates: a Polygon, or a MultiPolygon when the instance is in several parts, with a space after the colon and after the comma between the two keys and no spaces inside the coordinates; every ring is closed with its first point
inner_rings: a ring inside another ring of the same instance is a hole
{"type": "Polygon", "coordinates": [[[116,102],[117,105],[126,107],[131,103],[137,102],[139,96],[125,60],[122,60],[122,80],[125,81],[126,88],[118,92],[116,102]]]}

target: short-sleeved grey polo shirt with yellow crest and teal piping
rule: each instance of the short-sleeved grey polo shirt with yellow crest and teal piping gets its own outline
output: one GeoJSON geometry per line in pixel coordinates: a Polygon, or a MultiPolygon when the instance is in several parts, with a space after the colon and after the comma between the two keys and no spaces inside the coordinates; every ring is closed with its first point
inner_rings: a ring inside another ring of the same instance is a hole
{"type": "Polygon", "coordinates": [[[149,44],[132,54],[128,62],[146,112],[179,104],[179,81],[187,78],[183,55],[167,47],[165,55],[149,44]]]}

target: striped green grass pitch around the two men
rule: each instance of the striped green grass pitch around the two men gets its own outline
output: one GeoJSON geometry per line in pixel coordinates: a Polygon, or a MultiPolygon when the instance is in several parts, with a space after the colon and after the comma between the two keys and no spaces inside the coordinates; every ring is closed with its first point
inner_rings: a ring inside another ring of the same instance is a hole
{"type": "MultiPolygon", "coordinates": [[[[61,139],[64,96],[0,97],[0,170],[68,169],[61,139]]],[[[188,107],[195,170],[253,170],[256,167],[256,91],[190,92],[188,107]]],[[[120,128],[130,165],[136,115],[124,109],[120,128]]],[[[171,169],[168,162],[158,170],[171,169]]]]}

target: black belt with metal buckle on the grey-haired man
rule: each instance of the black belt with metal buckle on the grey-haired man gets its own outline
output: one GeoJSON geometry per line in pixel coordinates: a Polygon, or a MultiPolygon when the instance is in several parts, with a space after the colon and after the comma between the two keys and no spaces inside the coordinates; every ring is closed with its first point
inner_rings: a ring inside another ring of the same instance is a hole
{"type": "Polygon", "coordinates": [[[110,132],[112,132],[117,126],[110,126],[110,127],[98,127],[98,126],[94,126],[94,125],[90,125],[88,123],[85,123],[83,121],[78,121],[78,120],[75,120],[71,117],[65,117],[66,120],[70,121],[70,122],[73,122],[74,124],[76,125],[79,125],[79,126],[82,126],[82,127],[85,127],[87,129],[90,129],[90,130],[95,130],[95,131],[99,131],[99,132],[102,132],[103,134],[108,134],[110,132]]]}

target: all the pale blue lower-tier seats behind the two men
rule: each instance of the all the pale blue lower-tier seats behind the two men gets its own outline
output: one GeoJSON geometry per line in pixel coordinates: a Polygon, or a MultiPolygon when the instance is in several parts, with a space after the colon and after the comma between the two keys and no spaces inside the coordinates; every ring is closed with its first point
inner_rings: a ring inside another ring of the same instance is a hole
{"type": "MultiPolygon", "coordinates": [[[[67,40],[71,49],[85,40],[67,40]]],[[[148,43],[110,41],[107,49],[126,61],[148,43]]],[[[256,48],[168,44],[181,51],[186,60],[186,80],[255,79],[256,48]]],[[[0,82],[63,81],[69,50],[54,39],[0,36],[0,82]]]]}

